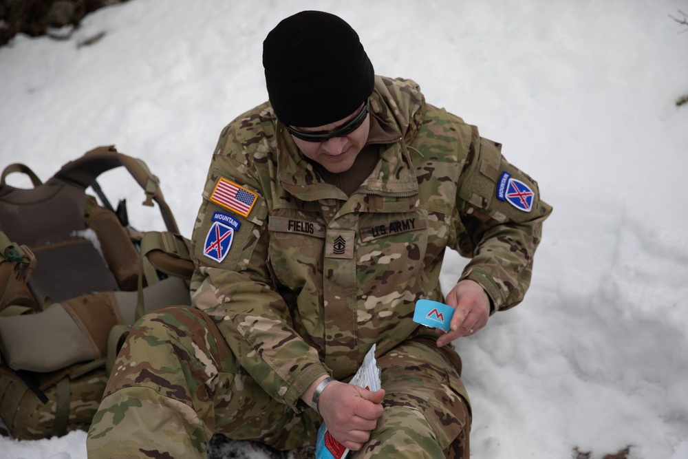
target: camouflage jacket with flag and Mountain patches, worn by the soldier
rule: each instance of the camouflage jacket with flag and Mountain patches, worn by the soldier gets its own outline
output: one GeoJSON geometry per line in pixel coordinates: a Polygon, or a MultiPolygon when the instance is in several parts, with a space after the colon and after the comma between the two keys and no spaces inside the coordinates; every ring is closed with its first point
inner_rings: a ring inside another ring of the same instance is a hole
{"type": "Polygon", "coordinates": [[[442,301],[447,247],[471,258],[462,279],[495,310],[519,303],[551,210],[498,144],[427,105],[413,81],[376,77],[370,103],[398,140],[350,196],[301,156],[269,103],[239,116],[193,232],[194,305],[241,371],[296,410],[312,381],[351,376],[373,343],[384,354],[436,337],[412,317],[418,299],[442,301]]]}

